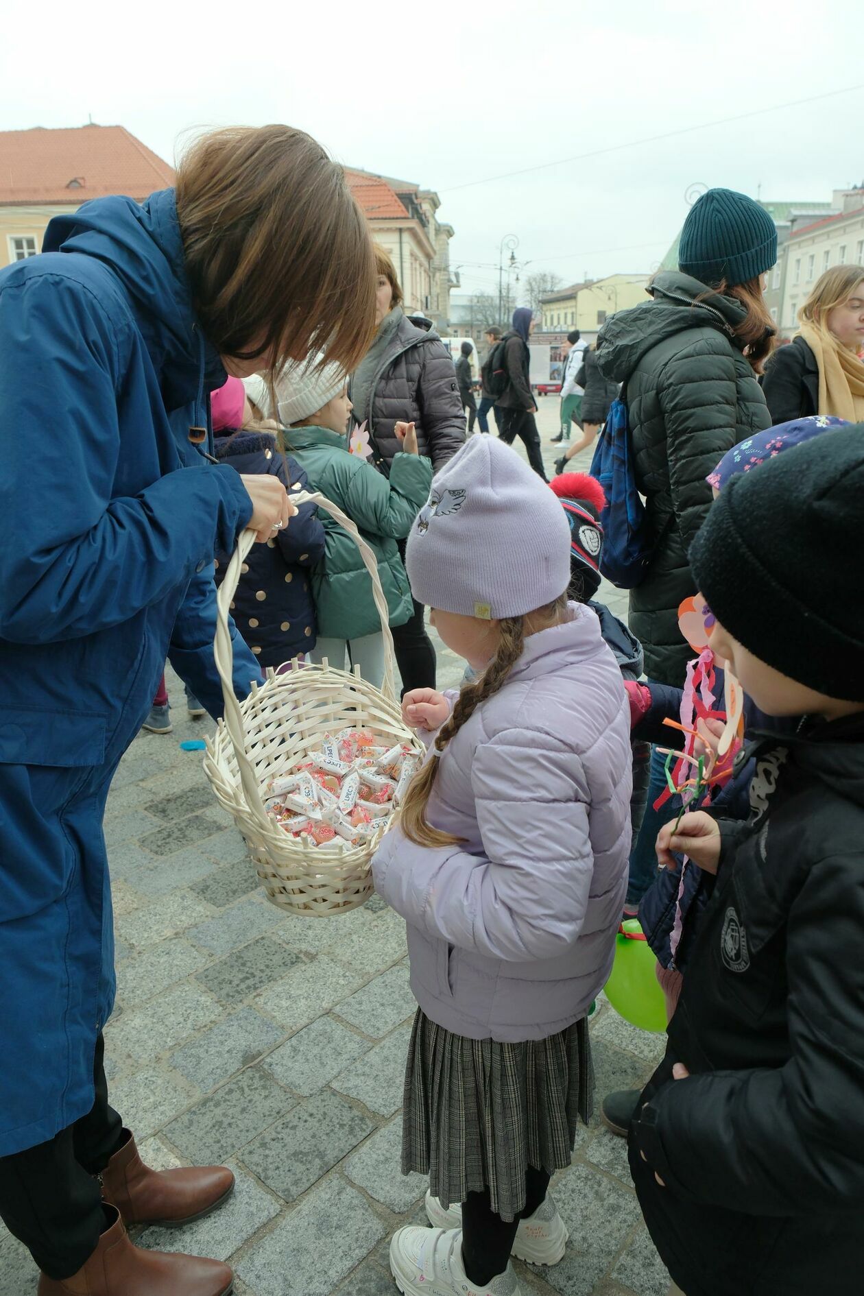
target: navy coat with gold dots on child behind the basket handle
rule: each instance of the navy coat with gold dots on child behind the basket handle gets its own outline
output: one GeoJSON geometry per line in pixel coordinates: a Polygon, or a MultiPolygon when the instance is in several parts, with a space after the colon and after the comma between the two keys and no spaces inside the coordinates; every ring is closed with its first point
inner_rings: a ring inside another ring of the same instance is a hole
{"type": "MultiPolygon", "coordinates": [[[[237,432],[216,441],[216,457],[238,473],[268,473],[285,489],[308,490],[306,473],[276,447],[266,432],[237,432]]],[[[216,584],[231,555],[216,555],[216,584]]],[[[232,603],[237,630],[262,667],[281,666],[315,648],[315,605],[311,566],[324,557],[324,527],[315,504],[301,504],[282,531],[266,544],[254,544],[232,603]],[[262,597],[263,595],[263,597],[262,597]]]]}

